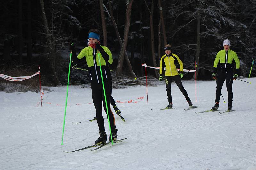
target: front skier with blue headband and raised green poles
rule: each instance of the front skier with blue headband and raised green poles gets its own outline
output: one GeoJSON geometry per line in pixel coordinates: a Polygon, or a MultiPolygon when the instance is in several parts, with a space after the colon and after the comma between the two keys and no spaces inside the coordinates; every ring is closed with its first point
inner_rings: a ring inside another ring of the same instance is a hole
{"type": "MultiPolygon", "coordinates": [[[[107,134],[105,132],[104,119],[102,116],[102,103],[103,103],[104,110],[107,113],[107,107],[106,107],[106,102],[107,102],[112,139],[116,140],[117,138],[115,117],[110,109],[112,77],[111,77],[110,69],[108,65],[112,64],[113,59],[112,59],[112,54],[110,50],[106,46],[100,45],[100,41],[99,41],[100,31],[97,29],[90,29],[88,33],[89,33],[88,39],[89,39],[90,46],[82,49],[81,52],[78,54],[78,56],[76,56],[75,46],[70,46],[70,49],[73,51],[72,61],[74,64],[81,63],[82,61],[85,60],[88,66],[88,70],[90,72],[92,100],[96,109],[97,124],[100,131],[99,133],[100,137],[95,141],[95,144],[102,144],[102,143],[106,143],[107,141],[107,134]],[[105,97],[103,92],[103,83],[101,80],[100,65],[101,65],[102,77],[103,77],[104,87],[105,87],[106,102],[105,102],[105,97]]],[[[111,140],[110,135],[109,135],[109,140],[111,140]]]]}

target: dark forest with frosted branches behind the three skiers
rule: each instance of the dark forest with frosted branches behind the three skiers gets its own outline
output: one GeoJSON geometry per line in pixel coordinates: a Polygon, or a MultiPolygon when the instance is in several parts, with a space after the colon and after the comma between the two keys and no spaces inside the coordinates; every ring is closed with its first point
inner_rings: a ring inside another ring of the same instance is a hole
{"type": "MultiPolygon", "coordinates": [[[[145,76],[142,63],[159,67],[165,44],[185,69],[196,63],[199,80],[212,79],[225,39],[240,59],[239,76],[249,76],[256,58],[255,0],[8,0],[0,2],[0,11],[0,73],[28,76],[40,65],[43,86],[67,84],[69,43],[80,52],[91,28],[100,30],[101,44],[113,54],[110,69],[130,77],[145,76]]],[[[150,68],[147,74],[159,76],[150,68]]],[[[71,69],[70,76],[71,84],[89,83],[86,71],[71,69]]],[[[0,90],[6,83],[0,79],[0,90]]],[[[38,86],[38,77],[20,83],[38,86]]]]}

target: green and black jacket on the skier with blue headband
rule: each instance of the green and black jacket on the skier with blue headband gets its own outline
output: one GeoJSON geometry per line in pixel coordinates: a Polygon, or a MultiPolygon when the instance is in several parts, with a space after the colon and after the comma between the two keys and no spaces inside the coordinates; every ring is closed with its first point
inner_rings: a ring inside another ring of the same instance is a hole
{"type": "Polygon", "coordinates": [[[75,56],[72,57],[72,61],[74,64],[81,62],[81,60],[86,61],[88,70],[90,73],[90,80],[92,83],[102,83],[101,74],[100,74],[100,65],[102,70],[103,81],[112,80],[110,69],[108,67],[108,64],[112,64],[113,62],[112,54],[106,46],[101,46],[101,47],[102,47],[100,49],[101,52],[90,46],[85,47],[78,54],[77,57],[76,57],[76,53],[75,53],[75,56]],[[100,61],[99,61],[98,55],[100,56],[100,61]]]}

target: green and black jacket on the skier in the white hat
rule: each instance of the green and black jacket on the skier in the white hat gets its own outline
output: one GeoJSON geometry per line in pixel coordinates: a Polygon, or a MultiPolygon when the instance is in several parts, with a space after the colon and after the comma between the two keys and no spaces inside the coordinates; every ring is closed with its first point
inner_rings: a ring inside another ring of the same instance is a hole
{"type": "Polygon", "coordinates": [[[236,52],[234,52],[230,49],[228,51],[220,50],[217,53],[216,58],[214,60],[214,64],[213,64],[214,72],[217,71],[217,65],[219,62],[220,62],[220,70],[222,72],[228,73],[228,72],[233,71],[233,68],[232,68],[233,60],[236,63],[235,73],[238,73],[239,68],[240,68],[240,61],[238,59],[236,52]]]}

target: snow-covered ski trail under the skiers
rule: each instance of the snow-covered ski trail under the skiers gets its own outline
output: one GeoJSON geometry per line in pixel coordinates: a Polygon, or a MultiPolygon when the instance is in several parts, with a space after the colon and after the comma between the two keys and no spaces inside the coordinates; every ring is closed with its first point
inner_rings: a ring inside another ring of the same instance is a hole
{"type": "MultiPolygon", "coordinates": [[[[243,79],[247,81],[248,79],[243,79]]],[[[116,103],[122,116],[115,115],[118,138],[123,142],[106,145],[96,151],[65,153],[94,144],[99,137],[90,88],[69,86],[68,106],[61,145],[66,87],[45,92],[43,107],[35,107],[40,94],[0,92],[0,169],[256,169],[256,78],[252,84],[233,82],[234,112],[205,112],[214,105],[215,81],[183,81],[195,106],[188,103],[175,83],[168,104],[164,83],[148,87],[113,89],[115,100],[128,101],[141,96],[138,103],[116,103]],[[60,105],[56,105],[60,104],[60,105]],[[77,105],[78,104],[78,105],[77,105]],[[83,123],[74,124],[72,122],[83,123]]],[[[226,82],[220,98],[220,110],[227,110],[226,82]]],[[[111,107],[113,111],[113,108],[111,107]]],[[[105,112],[103,113],[106,118],[105,112]]],[[[106,133],[109,136],[105,119],[106,133]]]]}

